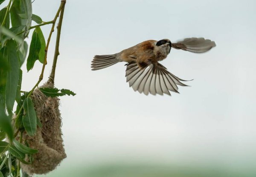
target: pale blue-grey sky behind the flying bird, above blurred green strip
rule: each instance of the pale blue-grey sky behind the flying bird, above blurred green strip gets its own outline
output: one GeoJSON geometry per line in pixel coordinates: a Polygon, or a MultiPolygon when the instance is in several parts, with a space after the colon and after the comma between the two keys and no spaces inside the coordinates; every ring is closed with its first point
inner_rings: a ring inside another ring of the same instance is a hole
{"type": "MultiPolygon", "coordinates": [[[[33,13],[50,21],[59,3],[35,0],[33,13]]],[[[256,174],[255,17],[255,0],[67,0],[55,86],[77,95],[61,97],[67,159],[53,173],[77,163],[136,162],[215,164],[256,174]],[[204,54],[172,49],[161,62],[175,76],[194,79],[180,94],[134,92],[125,63],[90,70],[96,54],[186,37],[211,39],[217,47],[204,54]]],[[[42,28],[45,38],[49,28],[42,28]]],[[[30,90],[41,64],[23,70],[22,90],[30,90]]]]}

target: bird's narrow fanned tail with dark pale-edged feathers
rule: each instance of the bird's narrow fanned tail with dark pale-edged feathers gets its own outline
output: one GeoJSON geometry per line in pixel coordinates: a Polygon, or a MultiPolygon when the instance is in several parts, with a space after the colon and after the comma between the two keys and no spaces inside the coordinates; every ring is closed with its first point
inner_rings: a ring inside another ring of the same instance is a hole
{"type": "Polygon", "coordinates": [[[117,53],[113,55],[94,56],[91,64],[92,70],[100,70],[120,62],[116,57],[117,57],[117,53]]]}

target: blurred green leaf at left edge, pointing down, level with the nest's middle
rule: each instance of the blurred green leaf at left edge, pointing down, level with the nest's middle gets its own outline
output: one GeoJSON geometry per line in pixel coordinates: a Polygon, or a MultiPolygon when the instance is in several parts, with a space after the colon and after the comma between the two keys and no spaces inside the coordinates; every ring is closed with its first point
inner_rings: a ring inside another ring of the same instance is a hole
{"type": "Polygon", "coordinates": [[[4,106],[0,104],[0,128],[3,132],[6,132],[10,140],[13,139],[13,130],[11,120],[5,113],[4,106]]]}

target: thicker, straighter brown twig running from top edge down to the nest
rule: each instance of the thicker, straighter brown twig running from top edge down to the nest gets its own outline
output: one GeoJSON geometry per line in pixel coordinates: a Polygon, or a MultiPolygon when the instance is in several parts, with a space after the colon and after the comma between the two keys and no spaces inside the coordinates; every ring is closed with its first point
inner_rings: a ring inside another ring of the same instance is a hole
{"type": "Polygon", "coordinates": [[[59,22],[58,22],[58,26],[57,26],[57,37],[56,37],[55,52],[54,52],[54,57],[53,57],[53,62],[52,62],[52,71],[51,71],[51,74],[48,79],[48,81],[51,82],[52,84],[54,84],[55,69],[56,69],[57,59],[60,54],[59,44],[60,44],[60,37],[61,37],[61,25],[62,25],[66,0],[61,0],[61,3],[62,2],[64,3],[64,6],[61,9],[61,14],[60,14],[60,18],[59,18],[59,22]]]}

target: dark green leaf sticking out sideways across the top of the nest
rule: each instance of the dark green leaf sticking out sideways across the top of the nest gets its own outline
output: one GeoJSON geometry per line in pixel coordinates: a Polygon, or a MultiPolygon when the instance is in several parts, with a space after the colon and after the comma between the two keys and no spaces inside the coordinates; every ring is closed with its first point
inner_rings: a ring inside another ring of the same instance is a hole
{"type": "Polygon", "coordinates": [[[64,95],[68,95],[68,96],[76,95],[76,93],[73,93],[71,90],[67,90],[67,89],[61,89],[61,93],[59,93],[60,90],[57,88],[44,87],[44,88],[39,88],[39,90],[41,90],[41,92],[44,93],[44,95],[50,96],[50,97],[64,96],[64,95]]]}

